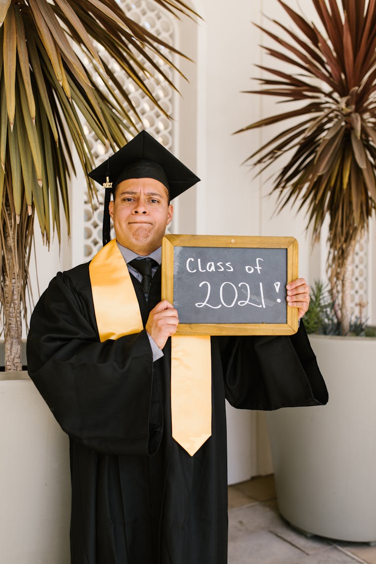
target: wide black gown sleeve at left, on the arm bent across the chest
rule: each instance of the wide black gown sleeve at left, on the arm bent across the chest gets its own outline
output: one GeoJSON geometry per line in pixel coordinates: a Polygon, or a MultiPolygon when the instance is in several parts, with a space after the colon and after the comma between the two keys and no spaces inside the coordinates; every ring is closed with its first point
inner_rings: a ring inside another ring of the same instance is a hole
{"type": "MultiPolygon", "coordinates": [[[[59,273],[39,299],[27,341],[29,376],[61,428],[85,446],[151,454],[160,442],[162,416],[161,406],[151,409],[155,386],[147,332],[99,342],[87,286],[78,292],[59,273]]],[[[110,297],[108,307],[116,307],[110,297]]]]}

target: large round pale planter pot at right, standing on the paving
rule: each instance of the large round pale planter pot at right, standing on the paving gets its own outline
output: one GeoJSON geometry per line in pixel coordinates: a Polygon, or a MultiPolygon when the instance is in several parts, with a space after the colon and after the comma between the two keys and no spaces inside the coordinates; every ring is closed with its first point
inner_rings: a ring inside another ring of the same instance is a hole
{"type": "Polygon", "coordinates": [[[278,507],[291,525],[376,541],[376,339],[311,335],[326,406],[268,414],[278,507]]]}

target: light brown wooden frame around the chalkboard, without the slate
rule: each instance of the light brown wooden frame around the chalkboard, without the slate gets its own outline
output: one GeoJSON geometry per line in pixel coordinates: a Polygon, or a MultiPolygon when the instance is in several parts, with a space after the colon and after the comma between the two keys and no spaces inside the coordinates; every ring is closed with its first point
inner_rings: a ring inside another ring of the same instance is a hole
{"type": "MultiPolygon", "coordinates": [[[[294,237],[166,235],[162,241],[162,299],[174,303],[174,248],[228,247],[287,250],[287,283],[298,278],[298,242],[294,237]]],[[[179,323],[180,335],[291,335],[298,331],[298,309],[287,307],[286,323],[179,323]]]]}

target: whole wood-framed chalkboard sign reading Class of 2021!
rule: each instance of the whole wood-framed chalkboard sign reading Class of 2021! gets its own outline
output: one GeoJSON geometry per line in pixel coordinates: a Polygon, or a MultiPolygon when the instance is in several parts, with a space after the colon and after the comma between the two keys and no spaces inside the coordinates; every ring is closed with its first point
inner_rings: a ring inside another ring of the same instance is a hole
{"type": "Polygon", "coordinates": [[[176,334],[293,334],[297,308],[286,284],[298,277],[294,237],[166,235],[162,299],[178,310],[176,334]]]}

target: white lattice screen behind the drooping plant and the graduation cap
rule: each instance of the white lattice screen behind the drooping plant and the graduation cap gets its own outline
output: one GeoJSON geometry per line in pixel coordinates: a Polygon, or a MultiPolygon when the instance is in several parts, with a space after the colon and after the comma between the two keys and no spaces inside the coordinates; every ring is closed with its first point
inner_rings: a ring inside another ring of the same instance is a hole
{"type": "MultiPolygon", "coordinates": [[[[149,31],[154,33],[156,36],[165,41],[168,45],[174,45],[175,43],[175,28],[172,23],[172,18],[167,12],[161,10],[161,8],[156,7],[155,4],[148,2],[147,0],[123,0],[118,2],[123,10],[127,12],[132,18],[137,21],[140,25],[147,28],[149,31]]],[[[141,60],[141,58],[139,57],[141,60]]],[[[160,58],[154,56],[154,60],[157,60],[160,64],[161,70],[170,79],[172,78],[172,70],[164,63],[160,58]]],[[[146,68],[149,67],[147,61],[143,60],[143,64],[146,68]]],[[[107,64],[116,73],[118,80],[123,84],[132,103],[135,105],[139,116],[143,121],[143,127],[151,135],[153,135],[160,143],[163,144],[167,149],[172,150],[172,123],[167,120],[165,116],[158,110],[158,108],[153,107],[152,103],[149,101],[147,96],[143,94],[135,85],[135,83],[127,78],[125,74],[120,71],[116,61],[108,58],[107,64]],[[118,71],[118,72],[117,72],[118,71]]],[[[151,74],[153,74],[151,72],[151,74]]],[[[172,115],[174,92],[171,86],[166,82],[162,82],[162,76],[158,77],[160,79],[160,85],[156,85],[153,80],[147,81],[148,88],[152,91],[155,98],[160,103],[161,107],[169,114],[172,115]]],[[[98,85],[100,87],[100,84],[98,85]]],[[[95,158],[95,164],[99,165],[108,156],[112,155],[112,150],[106,151],[102,143],[99,142],[96,135],[90,130],[90,127],[84,125],[85,133],[90,140],[90,146],[92,153],[95,158]]],[[[133,131],[132,136],[137,132],[133,131]]],[[[98,188],[98,186],[97,186],[98,188]]],[[[86,261],[89,261],[94,257],[102,246],[102,220],[103,220],[103,201],[104,201],[104,190],[98,188],[99,202],[95,204],[95,209],[93,210],[89,201],[87,193],[85,193],[85,204],[83,213],[83,230],[84,230],[84,249],[83,254],[86,261]]],[[[114,236],[112,234],[112,236],[114,236]]]]}

